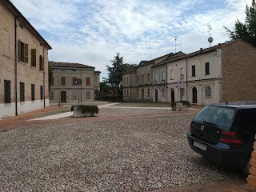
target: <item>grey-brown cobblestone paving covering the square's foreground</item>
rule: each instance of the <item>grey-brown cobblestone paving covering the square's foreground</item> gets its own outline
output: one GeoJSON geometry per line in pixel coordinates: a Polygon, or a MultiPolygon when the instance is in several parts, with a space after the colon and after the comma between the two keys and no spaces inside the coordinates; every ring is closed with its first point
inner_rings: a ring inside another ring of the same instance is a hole
{"type": "Polygon", "coordinates": [[[218,191],[198,184],[245,184],[236,170],[190,150],[186,133],[197,112],[102,108],[93,118],[25,121],[39,111],[1,120],[0,191],[218,191]]]}

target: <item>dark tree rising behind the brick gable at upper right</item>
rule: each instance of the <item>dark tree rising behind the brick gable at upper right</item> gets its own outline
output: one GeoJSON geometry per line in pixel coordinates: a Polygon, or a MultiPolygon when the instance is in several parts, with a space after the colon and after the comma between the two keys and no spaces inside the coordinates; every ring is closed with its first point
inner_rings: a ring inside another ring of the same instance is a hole
{"type": "Polygon", "coordinates": [[[226,32],[230,35],[232,40],[242,38],[245,42],[256,47],[256,4],[255,0],[252,0],[252,4],[249,7],[246,5],[246,21],[245,23],[237,20],[234,24],[234,30],[231,31],[226,28],[226,32]]]}

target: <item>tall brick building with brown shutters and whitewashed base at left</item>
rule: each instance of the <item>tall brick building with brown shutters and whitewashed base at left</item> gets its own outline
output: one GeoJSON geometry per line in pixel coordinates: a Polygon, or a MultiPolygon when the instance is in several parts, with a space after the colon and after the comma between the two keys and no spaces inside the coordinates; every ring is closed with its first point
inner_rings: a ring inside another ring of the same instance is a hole
{"type": "Polygon", "coordinates": [[[9,0],[0,23],[0,118],[48,106],[50,45],[9,0]]]}

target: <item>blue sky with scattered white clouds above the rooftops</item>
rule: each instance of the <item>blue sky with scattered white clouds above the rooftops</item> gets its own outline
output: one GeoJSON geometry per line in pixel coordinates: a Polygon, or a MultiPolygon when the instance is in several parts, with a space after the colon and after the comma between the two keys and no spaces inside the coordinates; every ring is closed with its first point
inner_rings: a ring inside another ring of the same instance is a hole
{"type": "Polygon", "coordinates": [[[229,40],[251,0],[10,0],[52,46],[49,59],[94,66],[106,77],[116,53],[138,64],[229,40]]]}

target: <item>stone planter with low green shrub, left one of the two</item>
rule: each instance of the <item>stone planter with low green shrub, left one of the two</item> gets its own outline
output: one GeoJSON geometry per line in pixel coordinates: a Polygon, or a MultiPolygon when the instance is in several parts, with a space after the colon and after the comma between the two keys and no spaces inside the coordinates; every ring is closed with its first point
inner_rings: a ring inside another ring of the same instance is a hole
{"type": "Polygon", "coordinates": [[[71,106],[71,111],[74,111],[73,116],[78,117],[93,117],[94,114],[98,114],[98,106],[80,105],[71,106]]]}

